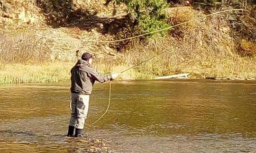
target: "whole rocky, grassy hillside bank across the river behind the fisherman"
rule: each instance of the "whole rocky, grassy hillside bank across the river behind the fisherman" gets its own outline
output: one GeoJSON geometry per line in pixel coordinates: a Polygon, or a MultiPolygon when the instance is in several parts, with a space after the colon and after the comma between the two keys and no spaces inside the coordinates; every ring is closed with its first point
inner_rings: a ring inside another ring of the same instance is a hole
{"type": "MultiPolygon", "coordinates": [[[[123,4],[105,6],[105,0],[76,1],[73,9],[60,6],[51,11],[52,5],[45,10],[32,1],[23,2],[9,0],[5,9],[0,8],[0,84],[67,81],[70,69],[85,51],[96,57],[93,66],[102,74],[121,72],[184,43],[129,70],[119,79],[151,79],[181,73],[190,73],[196,79],[256,78],[254,4],[248,4],[250,12],[214,15],[177,26],[165,35],[105,43],[138,35],[125,26],[123,4]],[[117,14],[113,16],[116,8],[117,14]],[[81,14],[81,10],[90,11],[81,14]],[[56,18],[56,12],[69,13],[56,18]]],[[[207,10],[217,12],[214,8],[207,10]]],[[[170,25],[209,14],[192,5],[173,5],[165,11],[170,25]]]]}

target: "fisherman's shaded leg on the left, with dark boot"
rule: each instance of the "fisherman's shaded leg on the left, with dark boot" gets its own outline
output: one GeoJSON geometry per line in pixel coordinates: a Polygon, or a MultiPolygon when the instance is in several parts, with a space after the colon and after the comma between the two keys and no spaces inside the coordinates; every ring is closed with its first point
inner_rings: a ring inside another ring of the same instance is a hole
{"type": "Polygon", "coordinates": [[[76,125],[77,111],[76,111],[76,103],[78,99],[78,94],[71,94],[71,118],[69,121],[68,134],[67,136],[74,136],[74,129],[76,125]]]}

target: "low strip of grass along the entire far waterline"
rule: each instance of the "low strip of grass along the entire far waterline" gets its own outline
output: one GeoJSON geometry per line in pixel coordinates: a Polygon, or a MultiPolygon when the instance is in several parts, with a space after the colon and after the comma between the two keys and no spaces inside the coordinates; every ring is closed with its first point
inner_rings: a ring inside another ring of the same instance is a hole
{"type": "MultiPolygon", "coordinates": [[[[165,65],[161,58],[142,64],[125,72],[119,80],[152,79],[180,73],[190,73],[192,79],[205,78],[256,78],[256,59],[237,58],[233,60],[210,59],[210,61],[184,61],[174,65],[165,65]],[[213,64],[215,63],[215,64],[213,64]]],[[[0,64],[0,84],[65,82],[70,79],[70,69],[75,62],[45,62],[42,64],[0,64]]],[[[130,65],[122,63],[108,64],[95,61],[93,67],[101,74],[121,72],[130,65]]]]}

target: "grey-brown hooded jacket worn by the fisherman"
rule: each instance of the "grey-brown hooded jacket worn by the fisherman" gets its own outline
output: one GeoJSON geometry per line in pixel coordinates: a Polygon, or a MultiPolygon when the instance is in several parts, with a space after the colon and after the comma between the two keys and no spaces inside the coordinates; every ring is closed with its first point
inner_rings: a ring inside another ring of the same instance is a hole
{"type": "Polygon", "coordinates": [[[90,65],[79,59],[71,69],[71,93],[91,94],[95,81],[100,83],[112,80],[111,76],[99,75],[90,65]]]}

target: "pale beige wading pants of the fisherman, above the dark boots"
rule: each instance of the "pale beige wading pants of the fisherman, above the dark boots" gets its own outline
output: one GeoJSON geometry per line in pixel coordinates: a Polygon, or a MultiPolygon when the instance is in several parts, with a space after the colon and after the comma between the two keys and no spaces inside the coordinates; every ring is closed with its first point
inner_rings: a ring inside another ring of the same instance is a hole
{"type": "Polygon", "coordinates": [[[72,112],[69,126],[83,129],[84,121],[87,118],[87,113],[89,110],[89,99],[90,95],[88,94],[84,95],[71,93],[70,108],[72,112]]]}

